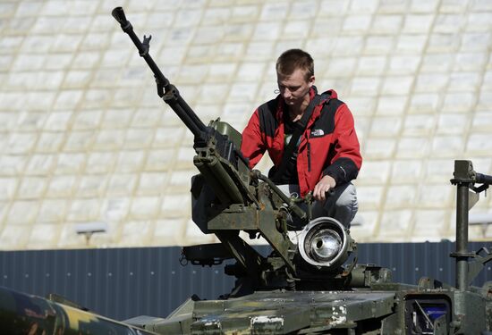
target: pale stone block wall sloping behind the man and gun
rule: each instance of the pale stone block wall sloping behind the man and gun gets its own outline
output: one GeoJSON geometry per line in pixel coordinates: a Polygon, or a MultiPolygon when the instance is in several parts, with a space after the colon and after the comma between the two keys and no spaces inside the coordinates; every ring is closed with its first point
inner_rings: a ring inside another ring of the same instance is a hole
{"type": "Polygon", "coordinates": [[[318,88],[355,117],[359,241],[453,239],[454,159],[491,173],[488,0],[4,0],[2,249],[87,247],[75,232],[85,222],[107,224],[90,247],[214,240],[191,222],[191,134],[159,100],[116,5],[153,36],[150,54],[199,117],[238,130],[275,96],[278,54],[309,51],[318,88]]]}

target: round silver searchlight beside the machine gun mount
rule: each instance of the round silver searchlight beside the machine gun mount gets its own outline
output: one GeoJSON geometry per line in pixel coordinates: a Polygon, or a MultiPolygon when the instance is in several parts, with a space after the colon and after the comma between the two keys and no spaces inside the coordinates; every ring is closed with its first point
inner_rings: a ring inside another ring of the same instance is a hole
{"type": "Polygon", "coordinates": [[[308,264],[335,268],[344,264],[352,252],[352,238],[342,223],[320,217],[301,231],[298,248],[308,264]]]}

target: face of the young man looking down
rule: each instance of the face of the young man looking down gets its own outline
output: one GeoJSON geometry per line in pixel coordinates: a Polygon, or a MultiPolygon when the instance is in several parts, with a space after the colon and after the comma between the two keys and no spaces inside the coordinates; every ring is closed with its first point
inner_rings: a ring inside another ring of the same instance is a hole
{"type": "Polygon", "coordinates": [[[280,94],[284,97],[285,104],[288,106],[299,107],[303,102],[310,101],[310,88],[314,84],[314,76],[306,80],[306,71],[296,69],[289,76],[276,74],[276,82],[280,94]]]}

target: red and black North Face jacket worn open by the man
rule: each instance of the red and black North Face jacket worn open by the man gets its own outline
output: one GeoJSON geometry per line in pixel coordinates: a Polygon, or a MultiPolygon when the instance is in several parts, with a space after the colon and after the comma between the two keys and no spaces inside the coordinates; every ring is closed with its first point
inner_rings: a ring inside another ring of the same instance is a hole
{"type": "MultiPolygon", "coordinates": [[[[311,100],[316,94],[316,88],[311,88],[311,100]]],[[[322,96],[298,147],[297,173],[302,197],[325,175],[332,176],[336,185],[355,179],[362,164],[351,111],[337,99],[335,90],[330,89],[322,96]]],[[[284,108],[282,96],[260,105],[242,131],[241,151],[250,159],[250,168],[259,163],[265,151],[276,167],[282,162],[284,108]]]]}

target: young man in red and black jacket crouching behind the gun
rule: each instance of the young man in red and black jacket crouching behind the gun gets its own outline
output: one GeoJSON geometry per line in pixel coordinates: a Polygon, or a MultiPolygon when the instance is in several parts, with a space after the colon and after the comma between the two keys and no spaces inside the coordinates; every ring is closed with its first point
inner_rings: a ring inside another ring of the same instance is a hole
{"type": "Polygon", "coordinates": [[[276,78],[280,94],[251,116],[242,132],[242,154],[253,168],[267,151],[274,163],[269,177],[277,185],[301,197],[312,191],[313,217],[331,216],[350,227],[358,208],[350,181],[362,163],[352,113],[335,90],[318,95],[314,62],[300,49],[280,55],[276,78]]]}

